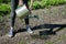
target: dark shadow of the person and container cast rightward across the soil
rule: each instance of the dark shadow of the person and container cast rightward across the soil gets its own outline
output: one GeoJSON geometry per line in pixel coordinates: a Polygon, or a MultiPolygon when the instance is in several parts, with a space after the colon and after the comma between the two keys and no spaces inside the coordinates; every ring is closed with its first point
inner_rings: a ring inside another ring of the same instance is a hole
{"type": "MultiPolygon", "coordinates": [[[[34,28],[31,28],[33,31],[34,30],[42,30],[42,29],[50,29],[48,31],[40,31],[40,35],[51,35],[51,34],[56,34],[56,32],[63,30],[64,28],[66,28],[66,24],[42,24],[42,25],[37,25],[34,28]],[[56,31],[53,32],[54,29],[58,28],[56,31]]],[[[18,31],[14,32],[15,33],[20,33],[20,32],[24,32],[26,31],[25,29],[20,29],[18,31]]]]}

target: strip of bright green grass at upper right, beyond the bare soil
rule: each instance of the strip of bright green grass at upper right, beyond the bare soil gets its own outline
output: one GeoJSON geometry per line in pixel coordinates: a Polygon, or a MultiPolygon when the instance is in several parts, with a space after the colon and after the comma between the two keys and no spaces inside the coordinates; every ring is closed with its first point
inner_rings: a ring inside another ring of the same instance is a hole
{"type": "Polygon", "coordinates": [[[42,1],[34,1],[33,9],[46,8],[50,6],[58,6],[65,4],[66,0],[42,0],[42,1]]]}

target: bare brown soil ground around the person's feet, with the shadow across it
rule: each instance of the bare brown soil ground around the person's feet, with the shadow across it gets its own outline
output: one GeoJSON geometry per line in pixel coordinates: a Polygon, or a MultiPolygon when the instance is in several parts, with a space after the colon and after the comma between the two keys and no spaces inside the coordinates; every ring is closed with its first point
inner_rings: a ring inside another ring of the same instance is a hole
{"type": "Polygon", "coordinates": [[[15,19],[14,37],[8,37],[10,15],[0,20],[0,44],[66,44],[66,4],[33,10],[30,25],[34,33],[25,31],[24,19],[15,19]],[[51,30],[51,31],[50,31],[51,30]],[[53,31],[52,31],[53,30],[53,31]]]}

